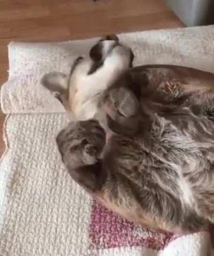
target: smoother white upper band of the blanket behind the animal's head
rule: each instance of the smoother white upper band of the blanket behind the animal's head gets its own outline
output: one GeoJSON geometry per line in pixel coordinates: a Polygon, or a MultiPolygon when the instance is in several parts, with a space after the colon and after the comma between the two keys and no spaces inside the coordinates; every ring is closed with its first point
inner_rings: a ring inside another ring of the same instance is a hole
{"type": "MultiPolygon", "coordinates": [[[[134,51],[134,65],[177,64],[214,72],[213,26],[120,34],[134,51]]],[[[69,73],[97,39],[61,43],[10,43],[9,79],[2,86],[5,113],[58,113],[61,104],[40,84],[50,71],[69,73]]]]}

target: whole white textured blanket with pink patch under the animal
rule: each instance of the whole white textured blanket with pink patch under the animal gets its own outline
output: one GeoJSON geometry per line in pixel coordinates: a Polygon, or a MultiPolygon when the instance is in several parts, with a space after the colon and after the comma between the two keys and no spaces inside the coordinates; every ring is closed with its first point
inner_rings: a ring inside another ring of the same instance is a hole
{"type": "MultiPolygon", "coordinates": [[[[214,26],[121,34],[136,64],[181,64],[214,72],[214,26]]],[[[96,39],[11,43],[1,105],[7,151],[0,162],[1,256],[206,256],[210,233],[175,237],[141,229],[101,207],[68,176],[55,145],[67,122],[39,81],[69,72],[96,39]]],[[[213,253],[213,254],[212,254],[213,253]]]]}

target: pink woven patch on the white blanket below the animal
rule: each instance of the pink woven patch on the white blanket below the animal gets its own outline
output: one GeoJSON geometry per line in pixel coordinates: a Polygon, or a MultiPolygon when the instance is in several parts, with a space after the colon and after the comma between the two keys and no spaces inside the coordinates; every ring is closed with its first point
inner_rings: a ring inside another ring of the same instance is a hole
{"type": "Polygon", "coordinates": [[[162,250],[179,236],[170,232],[142,229],[93,201],[89,237],[90,246],[95,249],[142,246],[153,250],[162,250]]]}

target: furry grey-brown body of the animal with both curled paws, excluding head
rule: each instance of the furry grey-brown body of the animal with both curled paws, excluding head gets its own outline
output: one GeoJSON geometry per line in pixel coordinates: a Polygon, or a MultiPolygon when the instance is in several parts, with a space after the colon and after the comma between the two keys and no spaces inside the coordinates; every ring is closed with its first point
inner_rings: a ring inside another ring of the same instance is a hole
{"type": "Polygon", "coordinates": [[[213,82],[170,65],[121,72],[96,105],[106,123],[72,121],[57,136],[71,177],[150,228],[191,232],[213,222],[213,82]]]}

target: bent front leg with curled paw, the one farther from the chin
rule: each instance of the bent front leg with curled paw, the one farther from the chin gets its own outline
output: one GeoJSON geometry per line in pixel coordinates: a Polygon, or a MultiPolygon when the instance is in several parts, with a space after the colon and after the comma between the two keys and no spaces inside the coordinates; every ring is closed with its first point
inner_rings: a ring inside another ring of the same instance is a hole
{"type": "Polygon", "coordinates": [[[56,142],[71,177],[90,192],[99,190],[104,181],[99,157],[105,145],[105,131],[99,122],[70,122],[56,142]]]}

